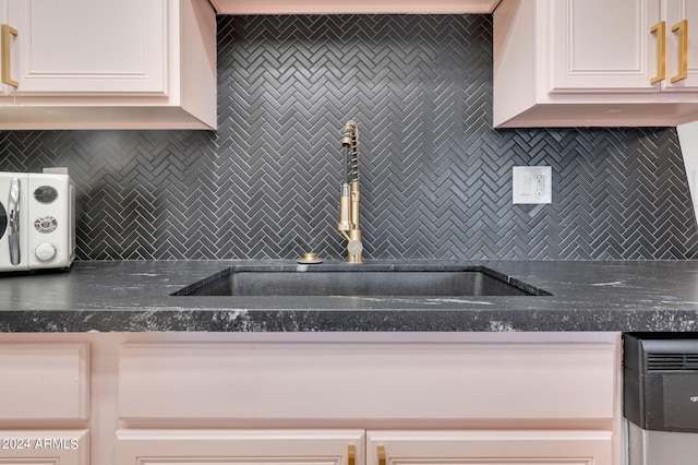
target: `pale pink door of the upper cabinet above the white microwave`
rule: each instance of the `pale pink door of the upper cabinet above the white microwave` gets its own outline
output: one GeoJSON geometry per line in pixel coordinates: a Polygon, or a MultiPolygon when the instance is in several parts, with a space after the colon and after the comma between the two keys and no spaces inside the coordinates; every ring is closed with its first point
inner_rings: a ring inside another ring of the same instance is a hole
{"type": "Polygon", "coordinates": [[[5,1],[16,95],[167,92],[167,0],[5,1]]]}

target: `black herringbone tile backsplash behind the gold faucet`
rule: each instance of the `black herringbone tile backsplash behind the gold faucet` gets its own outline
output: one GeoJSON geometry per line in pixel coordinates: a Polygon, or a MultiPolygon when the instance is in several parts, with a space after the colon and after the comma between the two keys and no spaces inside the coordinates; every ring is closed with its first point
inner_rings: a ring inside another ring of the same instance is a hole
{"type": "Polygon", "coordinates": [[[81,259],[340,259],[344,123],[368,259],[698,258],[674,129],[492,129],[489,15],[220,16],[219,129],[0,133],[68,166],[81,259]],[[512,167],[550,165],[551,205],[512,167]]]}

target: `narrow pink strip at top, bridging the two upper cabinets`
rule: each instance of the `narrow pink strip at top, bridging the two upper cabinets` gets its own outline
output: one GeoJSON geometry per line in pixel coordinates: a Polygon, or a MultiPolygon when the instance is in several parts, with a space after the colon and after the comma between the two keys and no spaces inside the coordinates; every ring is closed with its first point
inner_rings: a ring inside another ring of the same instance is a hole
{"type": "Polygon", "coordinates": [[[491,13],[501,0],[210,0],[220,14],[491,13]]]}

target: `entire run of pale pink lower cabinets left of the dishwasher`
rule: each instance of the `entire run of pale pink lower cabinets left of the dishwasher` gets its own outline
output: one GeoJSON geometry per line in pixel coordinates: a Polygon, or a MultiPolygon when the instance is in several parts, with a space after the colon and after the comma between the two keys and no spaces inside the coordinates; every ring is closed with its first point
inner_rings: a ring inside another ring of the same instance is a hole
{"type": "Polygon", "coordinates": [[[619,334],[2,334],[0,464],[621,465],[619,334]]]}

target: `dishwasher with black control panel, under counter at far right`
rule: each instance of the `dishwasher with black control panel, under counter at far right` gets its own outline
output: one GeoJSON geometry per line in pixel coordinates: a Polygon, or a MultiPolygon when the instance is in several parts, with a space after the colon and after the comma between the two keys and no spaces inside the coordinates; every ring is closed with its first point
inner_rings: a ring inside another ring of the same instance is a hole
{"type": "Polygon", "coordinates": [[[628,465],[698,463],[698,333],[623,335],[628,465]]]}

